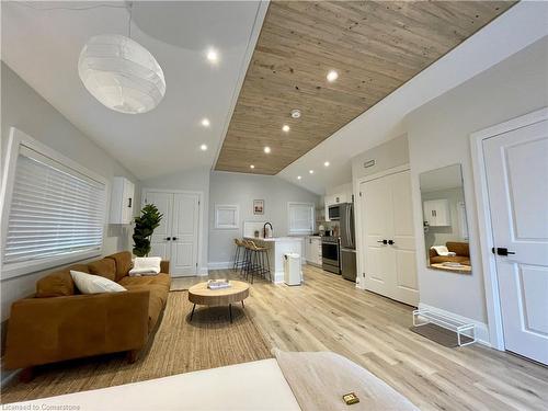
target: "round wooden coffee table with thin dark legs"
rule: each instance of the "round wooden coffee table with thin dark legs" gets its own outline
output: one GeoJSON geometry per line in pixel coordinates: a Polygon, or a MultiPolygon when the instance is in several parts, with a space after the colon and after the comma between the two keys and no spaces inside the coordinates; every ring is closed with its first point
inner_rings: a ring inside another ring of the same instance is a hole
{"type": "Polygon", "coordinates": [[[196,305],[228,305],[230,322],[232,322],[232,302],[241,301],[241,306],[244,308],[243,300],[249,297],[249,284],[239,281],[229,281],[229,283],[230,287],[221,289],[209,289],[207,288],[207,283],[198,283],[189,288],[189,301],[194,304],[191,312],[191,321],[192,317],[194,317],[196,305]]]}

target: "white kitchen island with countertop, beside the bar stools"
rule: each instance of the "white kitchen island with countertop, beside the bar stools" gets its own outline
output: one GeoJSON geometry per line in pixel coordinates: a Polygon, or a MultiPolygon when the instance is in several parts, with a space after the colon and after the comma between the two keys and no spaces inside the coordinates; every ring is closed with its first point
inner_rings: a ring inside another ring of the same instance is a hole
{"type": "Polygon", "coordinates": [[[253,241],[259,247],[269,249],[269,260],[271,264],[271,277],[273,283],[284,282],[284,254],[297,253],[302,261],[302,238],[300,237],[244,237],[246,240],[253,241]]]}

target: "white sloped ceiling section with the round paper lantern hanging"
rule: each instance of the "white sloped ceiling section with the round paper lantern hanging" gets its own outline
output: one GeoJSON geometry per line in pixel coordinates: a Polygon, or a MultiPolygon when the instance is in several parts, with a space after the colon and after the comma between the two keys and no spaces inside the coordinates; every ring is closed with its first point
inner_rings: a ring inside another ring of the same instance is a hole
{"type": "Polygon", "coordinates": [[[2,60],[138,179],[212,168],[264,16],[259,1],[2,1],[2,60]],[[129,19],[129,16],[132,19],[129,19]],[[128,35],[163,69],[144,114],[103,106],[78,77],[90,37],[128,35]],[[207,59],[209,48],[218,61],[207,59]],[[204,127],[202,119],[209,126],[204,127]],[[207,150],[201,146],[206,145],[207,150]]]}

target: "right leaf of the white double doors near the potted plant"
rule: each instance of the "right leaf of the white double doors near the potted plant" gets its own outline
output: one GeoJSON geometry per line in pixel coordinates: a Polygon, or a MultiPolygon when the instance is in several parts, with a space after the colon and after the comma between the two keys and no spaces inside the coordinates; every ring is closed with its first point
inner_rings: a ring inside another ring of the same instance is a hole
{"type": "Polygon", "coordinates": [[[171,231],[171,273],[174,275],[196,275],[198,221],[198,194],[175,193],[171,231]]]}

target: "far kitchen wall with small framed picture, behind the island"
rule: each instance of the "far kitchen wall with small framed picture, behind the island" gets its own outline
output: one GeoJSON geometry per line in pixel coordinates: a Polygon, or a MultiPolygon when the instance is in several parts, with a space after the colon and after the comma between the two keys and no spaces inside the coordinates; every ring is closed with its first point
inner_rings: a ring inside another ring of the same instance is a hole
{"type": "Polygon", "coordinates": [[[243,221],[270,221],[274,237],[287,236],[287,203],[319,204],[320,197],[275,175],[213,171],[209,186],[209,267],[233,260],[233,239],[242,236],[243,221]],[[253,199],[264,199],[264,215],[253,215],[253,199]],[[238,205],[240,228],[215,229],[215,204],[238,205]]]}

